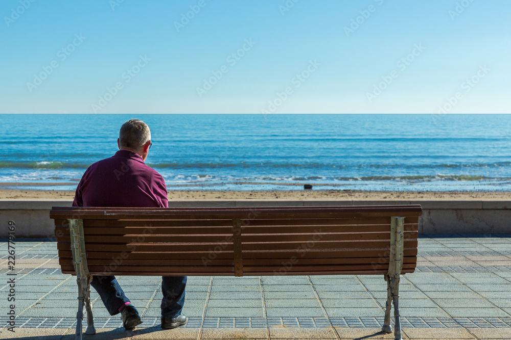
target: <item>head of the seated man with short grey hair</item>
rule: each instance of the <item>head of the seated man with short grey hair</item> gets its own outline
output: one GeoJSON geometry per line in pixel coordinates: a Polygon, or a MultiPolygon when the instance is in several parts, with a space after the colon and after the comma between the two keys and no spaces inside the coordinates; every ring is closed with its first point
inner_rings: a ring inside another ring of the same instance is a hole
{"type": "Polygon", "coordinates": [[[140,119],[130,119],[121,126],[117,139],[119,150],[133,151],[145,161],[151,146],[149,126],[140,119]]]}

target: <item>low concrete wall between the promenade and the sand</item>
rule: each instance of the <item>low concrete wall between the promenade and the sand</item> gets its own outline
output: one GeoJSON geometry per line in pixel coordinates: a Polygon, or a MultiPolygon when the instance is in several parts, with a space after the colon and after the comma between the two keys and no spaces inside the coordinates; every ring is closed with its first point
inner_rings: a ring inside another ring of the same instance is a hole
{"type": "MultiPolygon", "coordinates": [[[[16,237],[54,236],[52,206],[71,206],[72,201],[0,200],[0,237],[7,237],[10,220],[15,222],[16,237]]],[[[318,206],[421,204],[420,233],[510,233],[510,201],[284,201],[284,200],[212,200],[172,201],[171,207],[217,206],[318,206]]]]}

